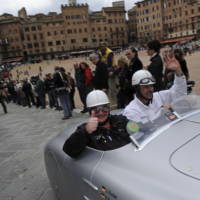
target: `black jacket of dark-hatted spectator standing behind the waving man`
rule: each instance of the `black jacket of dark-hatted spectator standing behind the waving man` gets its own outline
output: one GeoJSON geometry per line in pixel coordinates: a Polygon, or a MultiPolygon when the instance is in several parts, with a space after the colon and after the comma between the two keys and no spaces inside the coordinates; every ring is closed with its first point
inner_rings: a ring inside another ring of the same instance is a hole
{"type": "Polygon", "coordinates": [[[151,64],[149,65],[148,70],[151,72],[153,77],[156,80],[154,85],[155,91],[160,91],[163,89],[163,62],[159,54],[151,58],[151,64]]]}

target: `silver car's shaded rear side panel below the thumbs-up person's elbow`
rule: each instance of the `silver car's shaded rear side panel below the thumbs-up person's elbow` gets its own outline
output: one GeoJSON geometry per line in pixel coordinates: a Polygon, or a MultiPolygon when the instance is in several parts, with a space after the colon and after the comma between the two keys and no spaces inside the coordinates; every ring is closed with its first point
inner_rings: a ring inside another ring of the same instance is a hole
{"type": "Polygon", "coordinates": [[[70,136],[76,126],[68,127],[53,138],[45,147],[45,166],[52,188],[58,199],[84,199],[90,188],[90,176],[101,159],[101,151],[86,149],[78,159],[72,159],[63,151],[65,140],[70,136]],[[87,156],[86,156],[87,155],[87,156]]]}

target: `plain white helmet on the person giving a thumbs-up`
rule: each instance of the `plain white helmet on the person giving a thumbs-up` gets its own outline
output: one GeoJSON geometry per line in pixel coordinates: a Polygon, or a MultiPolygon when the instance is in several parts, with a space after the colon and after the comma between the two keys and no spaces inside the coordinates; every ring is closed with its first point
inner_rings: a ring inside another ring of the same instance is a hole
{"type": "Polygon", "coordinates": [[[86,104],[88,108],[108,104],[109,99],[105,92],[102,90],[93,90],[87,95],[86,104]]]}

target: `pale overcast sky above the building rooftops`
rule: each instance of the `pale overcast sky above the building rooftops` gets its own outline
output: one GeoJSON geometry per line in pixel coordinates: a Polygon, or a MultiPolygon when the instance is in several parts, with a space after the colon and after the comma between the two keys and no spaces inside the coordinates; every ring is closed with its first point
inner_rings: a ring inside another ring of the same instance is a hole
{"type": "MultiPolygon", "coordinates": [[[[114,0],[77,0],[78,3],[88,3],[90,10],[101,10],[102,7],[112,6],[114,0]]],[[[119,0],[116,0],[119,1],[119,0]]],[[[125,0],[126,10],[134,6],[138,0],[125,0]]],[[[0,0],[0,15],[10,13],[17,15],[17,11],[22,7],[26,8],[28,15],[36,13],[58,12],[61,4],[68,4],[68,0],[0,0]]]]}

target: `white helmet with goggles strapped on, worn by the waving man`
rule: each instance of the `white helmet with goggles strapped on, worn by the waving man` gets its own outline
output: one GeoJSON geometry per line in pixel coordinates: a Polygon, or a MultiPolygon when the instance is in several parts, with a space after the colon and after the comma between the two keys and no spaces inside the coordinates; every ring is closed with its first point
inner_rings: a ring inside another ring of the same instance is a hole
{"type": "Polygon", "coordinates": [[[138,70],[132,76],[132,86],[135,85],[152,85],[155,84],[156,81],[151,75],[151,73],[147,70],[138,70]]]}

